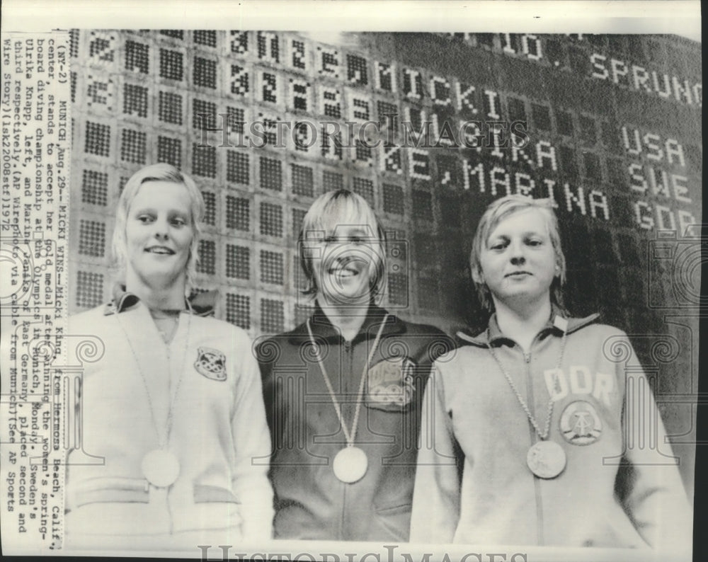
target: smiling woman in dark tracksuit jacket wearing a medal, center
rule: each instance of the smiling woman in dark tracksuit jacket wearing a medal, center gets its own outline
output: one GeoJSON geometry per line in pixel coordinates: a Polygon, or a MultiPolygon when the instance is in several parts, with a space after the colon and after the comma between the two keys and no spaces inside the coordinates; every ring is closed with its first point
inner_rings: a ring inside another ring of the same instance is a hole
{"type": "Polygon", "coordinates": [[[299,251],[314,313],[257,348],[275,537],[406,541],[423,391],[452,340],[377,306],[384,233],[359,195],[321,195],[299,251]]]}

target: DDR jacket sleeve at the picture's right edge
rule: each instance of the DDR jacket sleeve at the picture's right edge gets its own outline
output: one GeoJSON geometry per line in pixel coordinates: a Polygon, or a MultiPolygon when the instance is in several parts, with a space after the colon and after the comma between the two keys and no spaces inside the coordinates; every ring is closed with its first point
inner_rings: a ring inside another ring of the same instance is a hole
{"type": "Polygon", "coordinates": [[[675,558],[690,553],[692,513],[649,381],[639,365],[627,336],[622,341],[629,353],[617,364],[617,379],[624,381],[622,426],[626,464],[618,473],[618,491],[624,509],[641,537],[654,549],[675,558]],[[624,489],[623,489],[624,488],[624,489]]]}

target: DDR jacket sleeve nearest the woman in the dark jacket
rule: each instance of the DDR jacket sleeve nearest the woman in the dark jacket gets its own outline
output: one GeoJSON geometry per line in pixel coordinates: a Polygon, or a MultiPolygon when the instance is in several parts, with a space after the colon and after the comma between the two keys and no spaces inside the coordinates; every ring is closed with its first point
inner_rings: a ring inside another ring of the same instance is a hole
{"type": "Polygon", "coordinates": [[[459,470],[445,389],[433,365],[423,398],[418,467],[413,490],[411,542],[450,543],[459,520],[459,470]],[[456,462],[457,460],[457,462],[456,462]]]}

